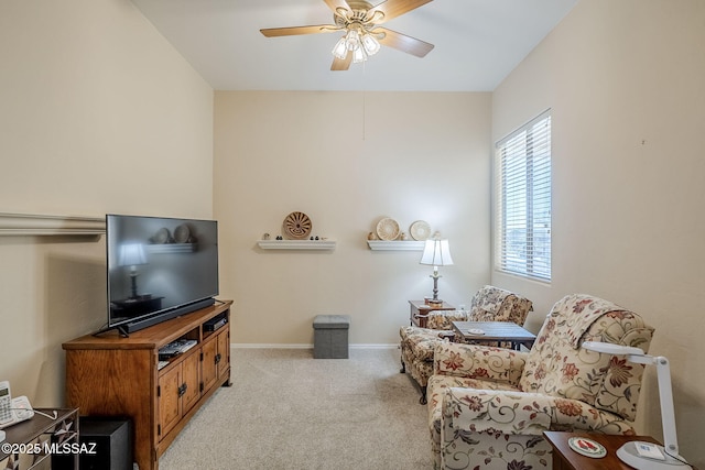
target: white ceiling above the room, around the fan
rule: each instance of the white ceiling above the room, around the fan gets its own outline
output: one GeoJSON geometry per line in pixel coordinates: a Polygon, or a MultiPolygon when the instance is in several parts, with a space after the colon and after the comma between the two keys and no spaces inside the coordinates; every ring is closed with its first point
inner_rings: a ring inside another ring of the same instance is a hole
{"type": "MultiPolygon", "coordinates": [[[[577,0],[435,0],[384,24],[435,45],[390,47],[330,72],[340,33],[264,37],[261,28],[330,24],[323,0],[132,0],[217,90],[491,91],[577,0]]],[[[372,1],[378,4],[380,1],[372,1]]]]}

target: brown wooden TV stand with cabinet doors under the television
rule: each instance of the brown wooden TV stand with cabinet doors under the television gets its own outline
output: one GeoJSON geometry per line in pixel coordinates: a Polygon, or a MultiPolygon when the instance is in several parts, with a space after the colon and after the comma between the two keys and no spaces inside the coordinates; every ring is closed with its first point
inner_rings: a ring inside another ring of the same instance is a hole
{"type": "Polygon", "coordinates": [[[121,337],[111,330],[63,345],[66,401],[83,416],[130,416],[141,470],[159,458],[220,385],[230,385],[231,300],[121,337]],[[225,318],[208,331],[206,323],[225,318]],[[177,339],[196,346],[159,369],[159,349],[177,339]]]}

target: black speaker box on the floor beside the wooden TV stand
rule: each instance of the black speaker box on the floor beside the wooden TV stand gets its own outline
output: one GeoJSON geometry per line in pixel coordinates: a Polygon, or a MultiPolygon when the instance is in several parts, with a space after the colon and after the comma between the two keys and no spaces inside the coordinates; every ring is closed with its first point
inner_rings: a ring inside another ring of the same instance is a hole
{"type": "Polygon", "coordinates": [[[96,451],[80,455],[80,470],[132,470],[134,450],[130,418],[82,416],[78,431],[80,444],[94,447],[96,451]]]}

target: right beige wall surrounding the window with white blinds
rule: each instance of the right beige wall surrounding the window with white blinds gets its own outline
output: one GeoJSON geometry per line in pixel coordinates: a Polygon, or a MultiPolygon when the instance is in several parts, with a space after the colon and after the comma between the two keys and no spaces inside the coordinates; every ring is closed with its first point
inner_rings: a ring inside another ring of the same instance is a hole
{"type": "MultiPolygon", "coordinates": [[[[705,4],[582,1],[495,91],[495,140],[553,109],[553,282],[492,282],[534,299],[538,328],[565,294],[641,314],[671,361],[679,444],[705,466],[705,4]]],[[[661,436],[655,373],[640,431],[661,436]]]]}

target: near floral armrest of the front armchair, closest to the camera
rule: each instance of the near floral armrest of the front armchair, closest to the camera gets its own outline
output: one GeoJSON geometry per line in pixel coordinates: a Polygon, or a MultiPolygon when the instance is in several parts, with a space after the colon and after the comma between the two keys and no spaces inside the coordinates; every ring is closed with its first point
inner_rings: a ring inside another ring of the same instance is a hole
{"type": "Polygon", "coordinates": [[[587,403],[538,393],[449,387],[443,395],[444,431],[540,436],[544,430],[633,434],[631,423],[587,403]]]}

